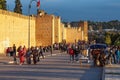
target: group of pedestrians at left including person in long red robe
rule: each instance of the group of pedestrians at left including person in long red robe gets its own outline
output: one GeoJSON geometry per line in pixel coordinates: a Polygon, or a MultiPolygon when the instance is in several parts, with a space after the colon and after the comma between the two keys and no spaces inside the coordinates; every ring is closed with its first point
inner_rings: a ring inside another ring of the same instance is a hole
{"type": "Polygon", "coordinates": [[[31,64],[33,61],[33,64],[36,64],[37,62],[40,61],[40,57],[44,59],[44,54],[43,54],[43,47],[31,47],[31,48],[26,48],[25,46],[19,46],[16,48],[15,44],[13,47],[8,47],[6,50],[6,55],[7,56],[12,56],[14,59],[14,63],[16,64],[19,61],[19,64],[22,65],[25,62],[27,64],[31,64]],[[10,55],[9,55],[10,54],[10,55]]]}

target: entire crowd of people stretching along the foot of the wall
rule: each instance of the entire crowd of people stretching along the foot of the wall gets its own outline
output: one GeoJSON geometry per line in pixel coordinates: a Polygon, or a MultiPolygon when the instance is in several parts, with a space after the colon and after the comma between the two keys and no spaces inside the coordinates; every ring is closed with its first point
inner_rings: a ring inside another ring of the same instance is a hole
{"type": "Polygon", "coordinates": [[[50,52],[52,50],[60,50],[61,52],[66,52],[70,56],[70,62],[79,62],[80,56],[87,57],[88,60],[99,60],[102,65],[106,64],[120,64],[120,46],[108,46],[105,49],[97,49],[99,54],[94,55],[94,50],[90,49],[90,44],[87,42],[76,42],[76,43],[55,43],[53,46],[36,46],[31,48],[26,48],[25,46],[19,46],[16,48],[15,44],[12,47],[6,49],[7,56],[13,56],[14,62],[17,63],[19,59],[19,64],[36,64],[40,61],[40,57],[44,59],[44,52],[50,52]],[[33,62],[32,62],[33,61],[33,62]]]}

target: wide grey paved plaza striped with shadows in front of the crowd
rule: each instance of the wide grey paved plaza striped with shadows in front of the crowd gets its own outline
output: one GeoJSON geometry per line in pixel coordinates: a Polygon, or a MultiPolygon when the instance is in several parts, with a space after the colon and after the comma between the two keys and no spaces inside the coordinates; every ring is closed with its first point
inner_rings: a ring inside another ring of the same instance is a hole
{"type": "Polygon", "coordinates": [[[66,53],[46,56],[36,65],[0,62],[0,80],[101,80],[101,73],[102,68],[87,63],[70,63],[66,53]]]}

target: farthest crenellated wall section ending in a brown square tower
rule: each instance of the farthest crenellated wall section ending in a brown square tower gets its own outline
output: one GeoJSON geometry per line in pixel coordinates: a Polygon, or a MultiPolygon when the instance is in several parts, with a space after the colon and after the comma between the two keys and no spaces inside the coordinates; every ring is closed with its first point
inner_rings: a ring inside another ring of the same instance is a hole
{"type": "Polygon", "coordinates": [[[79,22],[77,27],[71,27],[68,24],[68,27],[65,28],[66,37],[65,40],[67,43],[74,43],[78,40],[88,41],[88,23],[87,21],[79,22]]]}

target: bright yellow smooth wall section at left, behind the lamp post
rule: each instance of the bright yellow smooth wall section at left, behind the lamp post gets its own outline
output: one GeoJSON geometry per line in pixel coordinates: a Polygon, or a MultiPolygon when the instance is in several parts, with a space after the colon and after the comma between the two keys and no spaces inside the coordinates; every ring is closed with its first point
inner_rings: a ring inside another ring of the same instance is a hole
{"type": "MultiPolygon", "coordinates": [[[[0,53],[16,44],[28,47],[28,16],[0,10],[0,53]]],[[[30,42],[35,45],[35,18],[30,18],[30,42]]]]}

